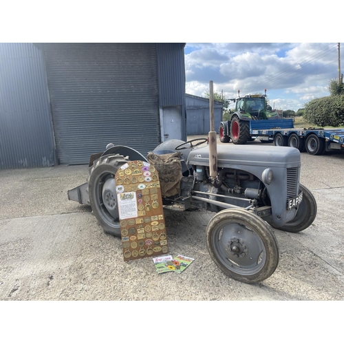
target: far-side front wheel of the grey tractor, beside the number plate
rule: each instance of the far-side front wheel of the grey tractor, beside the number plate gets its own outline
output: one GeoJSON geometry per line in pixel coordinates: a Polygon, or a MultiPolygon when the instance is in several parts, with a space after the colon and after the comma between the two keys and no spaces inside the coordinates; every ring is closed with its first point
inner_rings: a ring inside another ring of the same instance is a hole
{"type": "Polygon", "coordinates": [[[285,232],[298,233],[308,228],[314,222],[317,212],[316,200],[312,193],[302,184],[300,184],[300,191],[303,192],[303,200],[299,208],[297,208],[297,215],[295,215],[294,219],[283,226],[276,226],[270,223],[272,227],[285,232]]]}

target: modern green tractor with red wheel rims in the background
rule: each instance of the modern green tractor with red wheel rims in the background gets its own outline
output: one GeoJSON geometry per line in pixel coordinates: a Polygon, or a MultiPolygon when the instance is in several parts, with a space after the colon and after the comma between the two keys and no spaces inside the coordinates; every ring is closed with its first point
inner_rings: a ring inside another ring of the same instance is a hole
{"type": "Polygon", "coordinates": [[[219,124],[219,140],[221,142],[226,143],[231,139],[234,144],[245,144],[252,140],[250,120],[275,120],[279,118],[277,111],[268,105],[266,89],[264,91],[265,94],[262,96],[253,94],[240,97],[240,90],[238,90],[238,98],[230,99],[235,101],[235,112],[230,116],[230,120],[219,124]]]}

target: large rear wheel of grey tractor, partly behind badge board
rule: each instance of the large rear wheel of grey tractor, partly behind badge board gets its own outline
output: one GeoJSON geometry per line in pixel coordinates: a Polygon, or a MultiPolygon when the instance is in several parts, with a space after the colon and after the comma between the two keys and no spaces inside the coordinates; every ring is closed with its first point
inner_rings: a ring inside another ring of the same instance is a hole
{"type": "Polygon", "coordinates": [[[95,160],[88,178],[89,203],[105,233],[120,237],[120,219],[115,175],[128,162],[122,155],[105,155],[95,160]]]}

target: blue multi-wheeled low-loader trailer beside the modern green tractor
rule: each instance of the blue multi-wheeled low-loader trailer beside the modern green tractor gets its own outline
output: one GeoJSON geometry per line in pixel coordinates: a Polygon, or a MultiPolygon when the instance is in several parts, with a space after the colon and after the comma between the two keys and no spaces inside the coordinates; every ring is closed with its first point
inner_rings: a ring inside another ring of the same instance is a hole
{"type": "Polygon", "coordinates": [[[325,151],[344,150],[344,129],[294,128],[292,118],[250,120],[250,140],[275,142],[275,146],[321,155],[325,151]]]}

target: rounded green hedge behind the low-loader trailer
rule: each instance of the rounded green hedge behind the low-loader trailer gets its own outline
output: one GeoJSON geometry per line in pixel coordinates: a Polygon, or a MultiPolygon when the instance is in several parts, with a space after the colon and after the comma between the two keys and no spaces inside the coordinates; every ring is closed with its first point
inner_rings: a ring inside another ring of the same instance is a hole
{"type": "Polygon", "coordinates": [[[344,95],[316,98],[305,105],[305,120],[320,127],[344,124],[344,95]]]}

